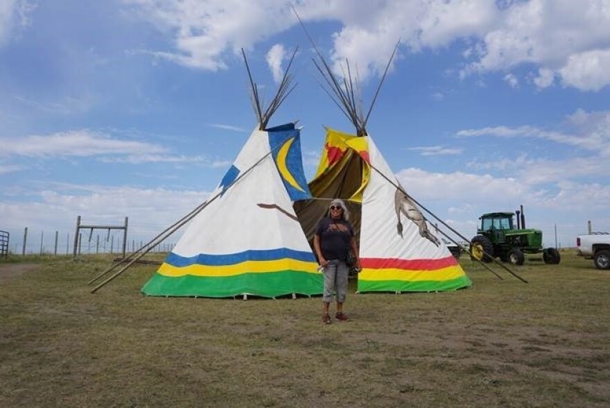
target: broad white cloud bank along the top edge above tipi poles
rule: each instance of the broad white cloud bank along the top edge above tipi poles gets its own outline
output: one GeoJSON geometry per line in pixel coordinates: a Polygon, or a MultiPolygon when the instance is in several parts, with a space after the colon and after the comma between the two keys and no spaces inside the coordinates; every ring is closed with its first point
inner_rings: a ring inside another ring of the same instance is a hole
{"type": "MultiPolygon", "coordinates": [[[[227,51],[250,48],[297,24],[289,4],[274,0],[123,2],[173,39],[173,49],[147,52],[212,71],[226,67],[227,51]]],[[[581,0],[577,7],[573,0],[385,0],[357,6],[348,0],[302,0],[295,8],[305,24],[340,24],[333,33],[331,65],[340,74],[347,58],[363,81],[383,73],[401,39],[415,52],[465,46],[462,77],[533,64],[539,88],[550,86],[555,76],[581,90],[610,83],[604,69],[610,53],[607,0],[581,0]]],[[[517,78],[506,79],[514,85],[517,78]]]]}

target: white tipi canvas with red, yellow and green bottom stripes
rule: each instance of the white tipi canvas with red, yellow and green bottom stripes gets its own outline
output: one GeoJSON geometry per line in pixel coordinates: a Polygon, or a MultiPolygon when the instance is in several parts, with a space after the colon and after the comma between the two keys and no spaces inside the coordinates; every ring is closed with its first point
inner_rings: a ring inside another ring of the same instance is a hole
{"type": "Polygon", "coordinates": [[[455,257],[404,194],[372,137],[327,129],[309,189],[317,199],[295,203],[295,208],[310,237],[315,226],[306,220],[324,212],[320,198],[349,201],[360,239],[358,292],[450,291],[471,286],[455,257]]]}

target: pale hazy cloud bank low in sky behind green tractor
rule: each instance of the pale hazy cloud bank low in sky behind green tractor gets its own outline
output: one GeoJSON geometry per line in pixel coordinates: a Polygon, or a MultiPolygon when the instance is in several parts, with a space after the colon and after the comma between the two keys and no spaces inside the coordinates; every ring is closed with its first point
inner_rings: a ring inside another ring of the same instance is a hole
{"type": "MultiPolygon", "coordinates": [[[[574,246],[575,236],[585,228],[584,222],[580,226],[578,221],[591,219],[593,214],[604,214],[610,200],[610,186],[570,180],[561,180],[554,188],[543,189],[518,177],[462,171],[432,173],[415,168],[399,171],[397,178],[421,206],[442,221],[451,221],[451,226],[467,239],[476,234],[480,214],[514,211],[524,205],[528,226],[543,230],[546,246],[555,244],[555,226],[559,243],[574,246]]],[[[438,223],[428,211],[424,210],[424,214],[430,223],[438,223]]],[[[595,223],[600,229],[608,228],[610,217],[598,215],[595,223]]],[[[439,228],[448,232],[440,223],[439,228]]]]}

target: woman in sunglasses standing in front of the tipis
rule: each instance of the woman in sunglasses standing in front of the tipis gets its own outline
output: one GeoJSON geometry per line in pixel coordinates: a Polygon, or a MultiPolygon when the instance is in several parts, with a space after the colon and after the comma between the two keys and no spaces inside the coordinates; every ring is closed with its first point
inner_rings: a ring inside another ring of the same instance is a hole
{"type": "Polygon", "coordinates": [[[337,296],[337,313],[335,317],[339,321],[348,321],[347,315],[343,313],[343,303],[347,296],[347,275],[349,267],[347,253],[351,249],[356,257],[356,268],[360,269],[360,257],[354,230],[349,223],[349,212],[342,200],[336,198],[331,201],[328,216],[320,220],[313,237],[313,247],[320,266],[324,268],[324,314],[322,323],[331,323],[329,306],[333,300],[333,291],[337,296]]]}

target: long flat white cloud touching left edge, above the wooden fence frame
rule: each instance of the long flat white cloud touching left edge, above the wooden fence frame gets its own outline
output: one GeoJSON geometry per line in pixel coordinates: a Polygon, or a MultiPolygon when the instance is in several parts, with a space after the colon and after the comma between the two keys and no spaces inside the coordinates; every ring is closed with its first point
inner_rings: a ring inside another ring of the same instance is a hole
{"type": "Polygon", "coordinates": [[[110,154],[163,153],[166,149],[154,144],[119,140],[103,133],[78,130],[47,136],[0,138],[0,155],[29,157],[91,156],[110,154]]]}

